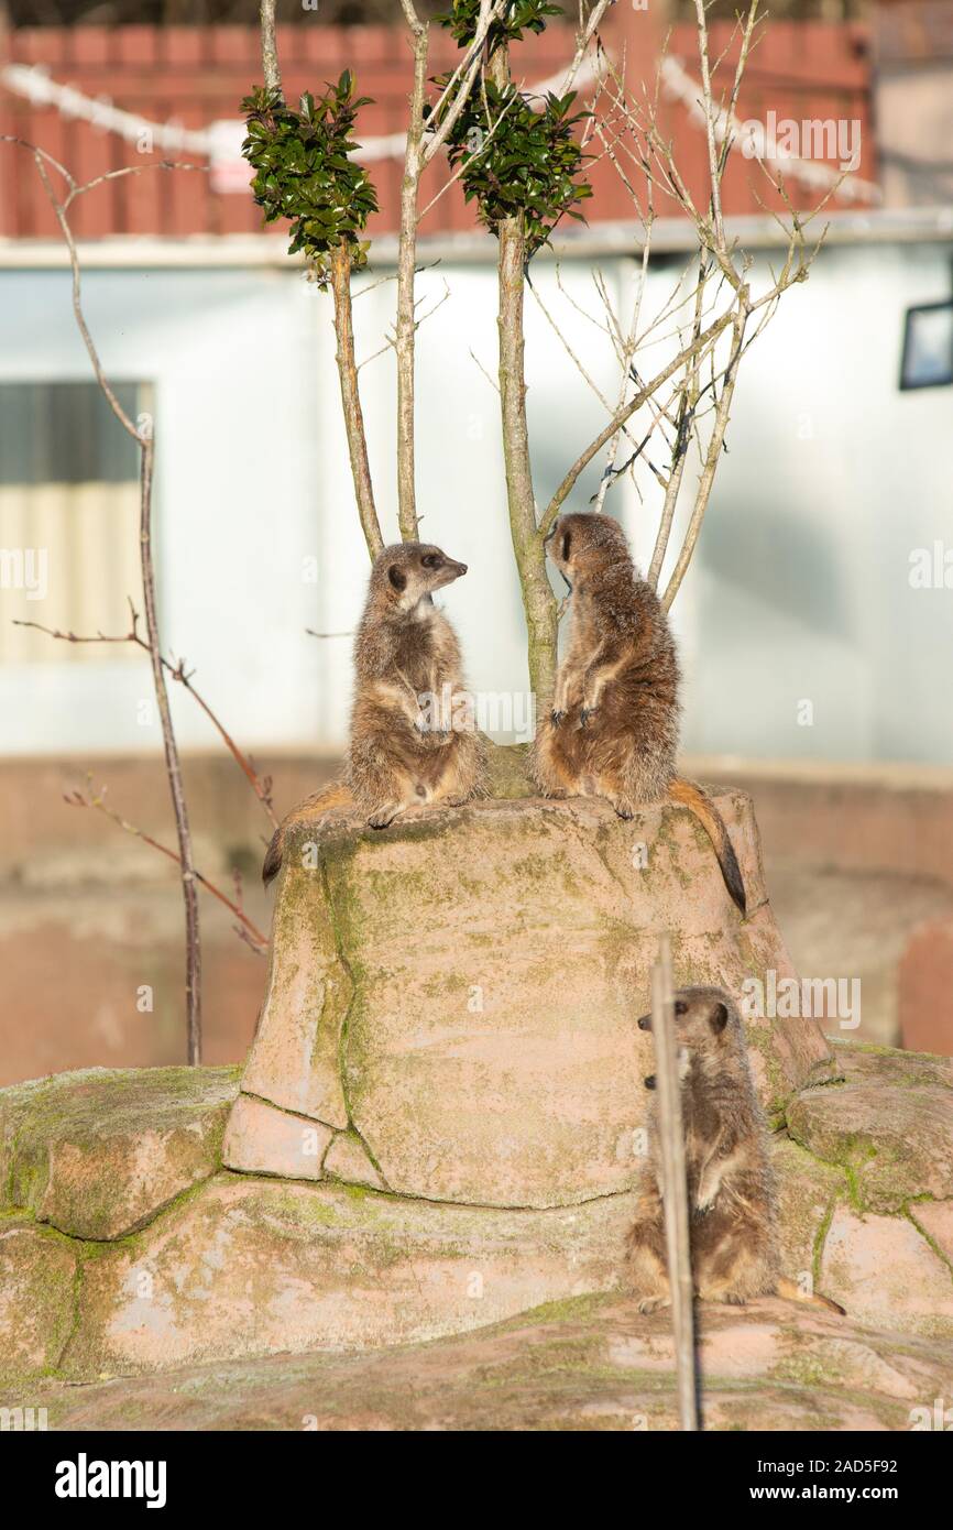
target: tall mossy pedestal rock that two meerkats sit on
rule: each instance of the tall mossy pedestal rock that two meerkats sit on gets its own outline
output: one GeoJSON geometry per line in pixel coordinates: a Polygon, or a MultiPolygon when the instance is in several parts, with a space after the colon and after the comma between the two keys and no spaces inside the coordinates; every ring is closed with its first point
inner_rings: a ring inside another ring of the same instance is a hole
{"type": "MultiPolygon", "coordinates": [[[[751,803],[717,805],[746,920],[682,809],[624,823],[598,800],[494,800],[384,834],[295,825],[243,1091],[291,1112],[291,1135],[300,1117],[347,1131],[402,1195],[543,1209],[632,1189],[653,1066],[635,1019],[659,933],[679,984],[740,1001],[751,978],[792,976],[751,803]]],[[[753,1019],[748,1037],[774,1114],[834,1071],[811,1019],[753,1019]]],[[[289,1174],[246,1132],[229,1132],[225,1161],[289,1174]]]]}

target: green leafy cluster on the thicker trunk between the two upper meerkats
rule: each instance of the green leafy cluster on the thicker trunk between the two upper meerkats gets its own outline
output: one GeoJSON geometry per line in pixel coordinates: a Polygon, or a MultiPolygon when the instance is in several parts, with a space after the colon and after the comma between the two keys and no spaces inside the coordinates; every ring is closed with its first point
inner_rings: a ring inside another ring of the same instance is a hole
{"type": "Polygon", "coordinates": [[[476,200],[491,233],[499,233],[503,219],[523,214],[526,260],[548,243],[564,214],[586,222],[577,203],[592,196],[592,187],[578,176],[590,156],[572,129],[590,113],[571,115],[574,101],[575,90],[549,93],[543,110],[534,112],[514,86],[500,89],[486,80],[485,95],[467,103],[447,139],[451,167],[462,167],[463,196],[476,200]]]}

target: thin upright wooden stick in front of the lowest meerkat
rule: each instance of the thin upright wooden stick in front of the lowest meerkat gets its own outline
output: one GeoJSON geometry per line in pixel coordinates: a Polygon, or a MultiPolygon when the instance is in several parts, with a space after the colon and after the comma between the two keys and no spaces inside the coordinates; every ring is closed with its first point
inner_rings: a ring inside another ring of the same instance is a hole
{"type": "Polygon", "coordinates": [[[667,935],[662,935],[659,941],[658,962],[652,968],[652,1036],[655,1039],[655,1089],[658,1094],[678,1412],[682,1431],[696,1432],[699,1424],[698,1382],[694,1374],[691,1250],[688,1244],[688,1187],[685,1183],[685,1135],[678,1080],[678,1047],[675,1040],[672,950],[667,935]]]}

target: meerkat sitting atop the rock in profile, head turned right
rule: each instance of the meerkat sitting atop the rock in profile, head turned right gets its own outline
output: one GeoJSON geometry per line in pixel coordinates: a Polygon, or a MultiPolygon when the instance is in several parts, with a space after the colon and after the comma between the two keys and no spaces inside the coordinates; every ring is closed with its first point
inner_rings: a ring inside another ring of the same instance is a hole
{"type": "Polygon", "coordinates": [[[288,814],[265,857],[265,884],[297,820],[343,808],[385,829],[405,808],[456,805],[479,793],[483,748],[463,690],[460,647],[433,603],[436,591],[465,572],[465,563],[419,542],[384,548],[375,558],[353,650],[344,777],[288,814]]]}

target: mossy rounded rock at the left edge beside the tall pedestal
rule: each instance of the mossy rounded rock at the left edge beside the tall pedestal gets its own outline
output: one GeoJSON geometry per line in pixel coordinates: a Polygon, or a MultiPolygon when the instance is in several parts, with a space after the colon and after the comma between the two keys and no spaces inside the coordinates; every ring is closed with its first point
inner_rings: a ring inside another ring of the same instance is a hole
{"type": "Polygon", "coordinates": [[[0,1210],[121,1238],[222,1161],[236,1068],[90,1068],[0,1089],[0,1210]]]}

